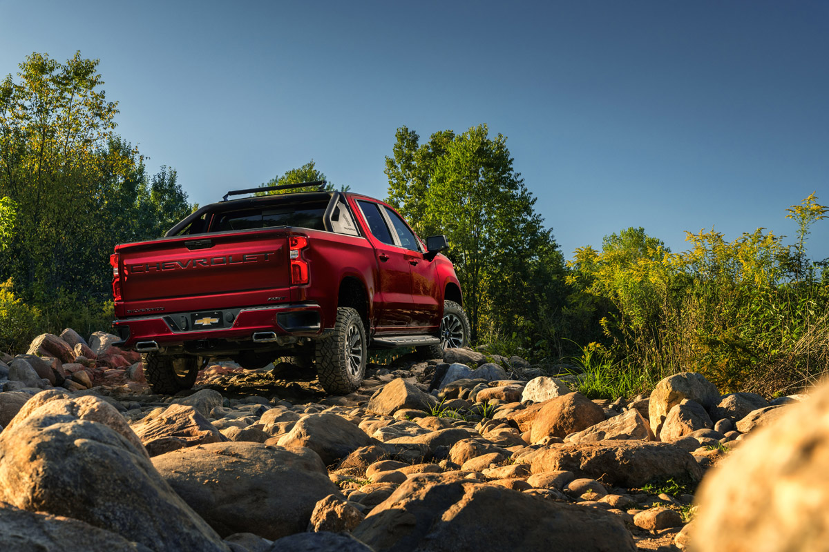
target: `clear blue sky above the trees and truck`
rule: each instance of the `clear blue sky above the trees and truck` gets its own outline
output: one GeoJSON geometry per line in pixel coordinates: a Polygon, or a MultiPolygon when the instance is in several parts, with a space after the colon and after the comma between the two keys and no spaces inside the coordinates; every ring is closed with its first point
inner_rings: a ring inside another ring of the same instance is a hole
{"type": "Polygon", "coordinates": [[[827,2],[0,0],[0,75],[75,50],[200,204],[312,158],[382,198],[397,127],[482,122],[565,257],[629,226],[793,238],[784,209],[829,204],[827,2]]]}

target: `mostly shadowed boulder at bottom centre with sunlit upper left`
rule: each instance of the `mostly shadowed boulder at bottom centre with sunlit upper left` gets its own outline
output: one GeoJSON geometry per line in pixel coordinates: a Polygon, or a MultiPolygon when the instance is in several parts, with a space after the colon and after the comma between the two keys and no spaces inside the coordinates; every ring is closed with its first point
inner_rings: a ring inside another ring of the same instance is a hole
{"type": "Polygon", "coordinates": [[[377,552],[636,550],[605,511],[440,474],[401,484],[353,534],[377,552]]]}

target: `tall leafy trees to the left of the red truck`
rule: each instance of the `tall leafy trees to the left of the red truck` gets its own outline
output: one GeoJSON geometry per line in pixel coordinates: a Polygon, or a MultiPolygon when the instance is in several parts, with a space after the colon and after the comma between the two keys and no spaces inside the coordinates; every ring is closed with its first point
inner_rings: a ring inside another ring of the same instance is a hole
{"type": "Polygon", "coordinates": [[[150,177],[114,133],[98,63],[35,53],[0,83],[0,278],[45,307],[108,299],[114,244],[158,238],[191,212],[176,171],[150,177]]]}

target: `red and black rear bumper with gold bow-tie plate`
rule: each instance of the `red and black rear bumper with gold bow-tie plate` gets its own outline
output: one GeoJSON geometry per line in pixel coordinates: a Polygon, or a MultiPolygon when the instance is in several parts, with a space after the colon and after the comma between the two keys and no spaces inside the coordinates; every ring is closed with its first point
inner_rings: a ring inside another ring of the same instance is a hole
{"type": "Polygon", "coordinates": [[[250,307],[225,310],[223,313],[233,315],[232,323],[223,322],[223,328],[189,331],[181,329],[175,320],[189,318],[192,313],[114,320],[114,334],[121,338],[114,345],[133,348],[135,343],[144,341],[154,341],[159,345],[173,345],[200,339],[245,341],[257,332],[310,338],[322,335],[322,308],[313,303],[250,307]]]}

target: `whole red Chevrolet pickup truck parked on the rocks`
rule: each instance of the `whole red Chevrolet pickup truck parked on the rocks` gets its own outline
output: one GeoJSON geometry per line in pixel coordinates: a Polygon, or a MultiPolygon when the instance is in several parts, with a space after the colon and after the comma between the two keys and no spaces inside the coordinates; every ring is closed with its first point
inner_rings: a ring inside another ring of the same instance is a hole
{"type": "Polygon", "coordinates": [[[346,394],[371,349],[439,358],[468,345],[446,238],[424,244],[388,204],[323,185],[228,192],[164,238],[115,246],[114,332],[143,353],[153,391],[189,389],[211,359],[257,368],[290,355],[346,394]],[[269,190],[284,193],[228,200],[269,190]]]}

